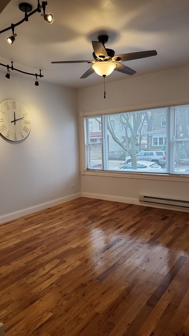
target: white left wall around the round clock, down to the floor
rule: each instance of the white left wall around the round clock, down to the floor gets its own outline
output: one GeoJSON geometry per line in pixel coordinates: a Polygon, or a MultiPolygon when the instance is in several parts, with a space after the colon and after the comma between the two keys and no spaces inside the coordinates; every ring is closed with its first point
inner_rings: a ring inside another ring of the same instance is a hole
{"type": "Polygon", "coordinates": [[[0,101],[28,109],[31,132],[22,141],[0,136],[0,222],[81,196],[77,92],[27,75],[0,74],[0,101]],[[71,189],[71,184],[75,185],[71,189]]]}

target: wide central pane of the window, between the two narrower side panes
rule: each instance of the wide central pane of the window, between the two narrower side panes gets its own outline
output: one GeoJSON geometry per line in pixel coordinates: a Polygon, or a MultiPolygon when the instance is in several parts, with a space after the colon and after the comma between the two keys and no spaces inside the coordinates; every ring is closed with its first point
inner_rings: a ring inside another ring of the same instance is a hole
{"type": "MultiPolygon", "coordinates": [[[[132,162],[131,169],[140,171],[143,168],[137,166],[137,161],[145,160],[148,163],[156,162],[163,168],[162,172],[166,172],[163,150],[166,148],[164,138],[167,136],[167,130],[165,125],[163,127],[161,125],[161,117],[167,122],[167,111],[168,108],[160,108],[106,115],[104,117],[107,132],[106,169],[117,170],[124,163],[132,162]],[[160,152],[158,157],[154,149],[160,152]]],[[[150,166],[146,169],[151,170],[150,166]]]]}

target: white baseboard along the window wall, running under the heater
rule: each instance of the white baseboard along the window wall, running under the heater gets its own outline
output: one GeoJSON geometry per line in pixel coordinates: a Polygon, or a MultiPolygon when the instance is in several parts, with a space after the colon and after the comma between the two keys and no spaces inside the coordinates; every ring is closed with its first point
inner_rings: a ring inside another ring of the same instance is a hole
{"type": "Polygon", "coordinates": [[[152,208],[160,208],[160,209],[168,209],[168,210],[177,210],[177,211],[183,211],[183,212],[189,212],[188,209],[182,209],[181,207],[177,206],[167,206],[162,204],[153,204],[153,203],[143,203],[140,202],[138,199],[135,198],[126,198],[126,197],[120,197],[120,196],[112,196],[112,195],[102,195],[102,194],[92,194],[92,193],[85,193],[82,191],[82,197],[86,198],[95,198],[98,200],[106,200],[106,201],[113,201],[113,202],[121,202],[121,203],[128,203],[128,204],[136,204],[136,205],[142,205],[145,207],[152,207],[152,208]]]}

